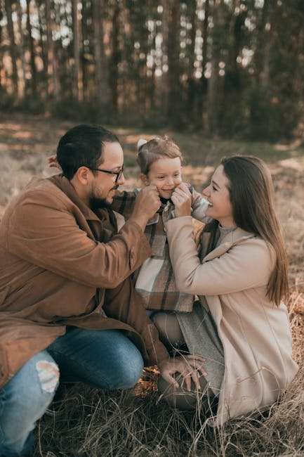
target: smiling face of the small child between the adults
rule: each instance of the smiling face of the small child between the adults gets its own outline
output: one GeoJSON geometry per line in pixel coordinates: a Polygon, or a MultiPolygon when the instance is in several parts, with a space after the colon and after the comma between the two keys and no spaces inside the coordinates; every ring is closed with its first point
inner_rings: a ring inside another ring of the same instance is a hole
{"type": "Polygon", "coordinates": [[[171,198],[171,195],[179,184],[182,182],[182,165],[180,157],[164,157],[150,165],[148,174],[142,174],[140,177],[144,184],[154,184],[157,186],[159,195],[162,198],[171,198]]]}

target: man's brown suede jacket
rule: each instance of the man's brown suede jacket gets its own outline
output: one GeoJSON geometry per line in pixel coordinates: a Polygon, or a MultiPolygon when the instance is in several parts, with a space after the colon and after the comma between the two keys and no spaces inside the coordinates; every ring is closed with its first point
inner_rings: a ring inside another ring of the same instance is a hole
{"type": "Polygon", "coordinates": [[[62,175],[32,179],[0,225],[0,387],[66,326],[121,329],[146,365],[166,359],[129,278],[150,255],[136,223],[117,233],[62,175]]]}

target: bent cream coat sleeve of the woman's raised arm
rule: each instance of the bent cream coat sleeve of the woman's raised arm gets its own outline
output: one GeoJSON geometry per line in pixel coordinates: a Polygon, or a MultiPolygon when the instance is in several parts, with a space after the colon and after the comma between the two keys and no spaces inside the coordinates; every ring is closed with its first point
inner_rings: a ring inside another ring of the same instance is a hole
{"type": "Polygon", "coordinates": [[[267,285],[273,257],[263,240],[249,238],[201,264],[191,217],[171,219],[166,231],[176,285],[183,292],[223,295],[267,285]]]}

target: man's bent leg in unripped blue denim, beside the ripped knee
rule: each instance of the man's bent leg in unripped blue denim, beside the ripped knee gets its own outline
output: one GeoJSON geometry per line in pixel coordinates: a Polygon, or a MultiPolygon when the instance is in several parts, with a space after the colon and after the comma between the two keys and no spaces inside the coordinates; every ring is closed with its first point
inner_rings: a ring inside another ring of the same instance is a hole
{"type": "Polygon", "coordinates": [[[128,389],[143,371],[143,357],[120,330],[70,327],[48,352],[60,367],[60,380],[81,381],[98,389],[128,389]]]}

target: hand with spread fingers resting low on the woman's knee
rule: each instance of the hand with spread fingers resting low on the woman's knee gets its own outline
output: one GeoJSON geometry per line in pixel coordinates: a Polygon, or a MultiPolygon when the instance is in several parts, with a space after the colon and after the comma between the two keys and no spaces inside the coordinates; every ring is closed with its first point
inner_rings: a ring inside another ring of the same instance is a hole
{"type": "Polygon", "coordinates": [[[195,356],[194,354],[173,357],[168,361],[159,363],[159,371],[162,378],[174,387],[178,387],[178,382],[173,378],[173,375],[174,373],[180,373],[183,376],[183,380],[185,380],[187,390],[190,392],[191,380],[194,382],[197,390],[201,388],[197,371],[203,376],[207,375],[203,368],[204,361],[206,361],[204,357],[195,356]]]}

